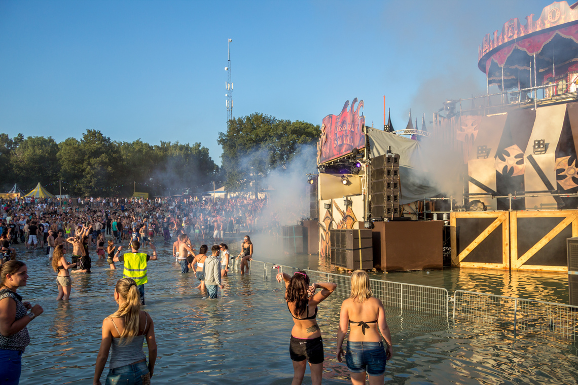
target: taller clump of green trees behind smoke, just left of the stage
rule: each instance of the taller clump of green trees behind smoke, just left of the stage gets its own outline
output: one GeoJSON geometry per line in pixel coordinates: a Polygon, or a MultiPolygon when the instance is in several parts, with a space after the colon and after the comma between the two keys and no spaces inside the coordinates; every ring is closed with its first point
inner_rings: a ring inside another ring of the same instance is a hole
{"type": "Polygon", "coordinates": [[[270,171],[286,169],[299,147],[316,141],[320,133],[319,125],[258,113],[231,119],[217,140],[223,147],[226,188],[259,190],[270,171]]]}

